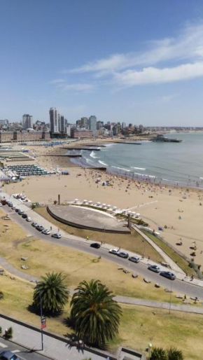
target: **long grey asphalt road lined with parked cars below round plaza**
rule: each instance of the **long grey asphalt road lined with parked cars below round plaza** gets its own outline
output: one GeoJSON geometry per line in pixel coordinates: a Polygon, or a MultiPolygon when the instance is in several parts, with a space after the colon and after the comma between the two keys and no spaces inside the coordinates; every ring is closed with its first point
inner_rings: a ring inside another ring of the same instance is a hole
{"type": "Polygon", "coordinates": [[[90,247],[90,244],[86,242],[80,242],[80,240],[69,239],[68,234],[67,237],[62,237],[61,239],[54,239],[51,237],[51,235],[43,235],[38,230],[36,230],[36,228],[31,226],[31,223],[25,221],[25,219],[23,219],[22,216],[18,215],[18,213],[16,213],[15,210],[10,209],[10,207],[8,207],[7,205],[3,206],[3,209],[10,215],[11,219],[16,221],[16,223],[18,223],[22,228],[24,228],[27,231],[27,233],[34,235],[34,237],[38,237],[51,244],[59,244],[64,247],[71,247],[72,249],[76,249],[78,251],[85,251],[95,256],[101,256],[106,260],[116,263],[120,267],[127,268],[131,272],[136,272],[138,275],[142,275],[143,277],[150,279],[152,282],[160,284],[160,286],[164,288],[170,289],[176,293],[186,293],[186,295],[190,297],[197,296],[197,298],[203,300],[203,288],[200,286],[193,285],[192,282],[191,283],[183,282],[179,279],[176,280],[166,279],[165,277],[162,277],[159,274],[156,274],[155,272],[151,272],[150,270],[148,270],[147,265],[145,265],[144,263],[141,262],[132,263],[127,259],[119,258],[116,255],[109,254],[109,251],[105,249],[105,245],[104,247],[100,247],[100,249],[94,249],[90,247]]]}

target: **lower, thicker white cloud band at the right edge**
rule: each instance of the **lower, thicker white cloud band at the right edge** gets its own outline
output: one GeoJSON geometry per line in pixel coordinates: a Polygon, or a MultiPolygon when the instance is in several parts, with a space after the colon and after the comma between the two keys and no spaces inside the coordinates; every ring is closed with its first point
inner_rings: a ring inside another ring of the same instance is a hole
{"type": "Polygon", "coordinates": [[[114,73],[116,83],[124,86],[152,83],[171,83],[190,78],[203,76],[203,62],[194,64],[182,64],[178,67],[158,69],[146,67],[141,71],[126,70],[122,73],[114,73]]]}

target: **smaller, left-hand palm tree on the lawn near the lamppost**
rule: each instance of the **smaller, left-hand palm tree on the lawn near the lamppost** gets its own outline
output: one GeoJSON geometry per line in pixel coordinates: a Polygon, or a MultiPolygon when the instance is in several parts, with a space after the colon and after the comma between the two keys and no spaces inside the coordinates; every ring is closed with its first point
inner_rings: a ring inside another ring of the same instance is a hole
{"type": "Polygon", "coordinates": [[[69,300],[69,290],[64,284],[61,272],[45,274],[42,281],[34,289],[33,304],[39,308],[42,303],[43,312],[56,314],[64,308],[69,300]]]}

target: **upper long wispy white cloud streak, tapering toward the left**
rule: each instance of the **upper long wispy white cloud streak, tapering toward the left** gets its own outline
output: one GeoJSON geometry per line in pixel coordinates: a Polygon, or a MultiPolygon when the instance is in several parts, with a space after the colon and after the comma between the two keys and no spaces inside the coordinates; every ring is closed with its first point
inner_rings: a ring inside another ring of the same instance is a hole
{"type": "Polygon", "coordinates": [[[63,73],[97,72],[104,76],[138,66],[151,66],[171,60],[200,60],[203,57],[203,24],[188,25],[176,38],[149,41],[148,48],[139,53],[113,54],[109,57],[87,62],[81,67],[64,70],[63,73]]]}

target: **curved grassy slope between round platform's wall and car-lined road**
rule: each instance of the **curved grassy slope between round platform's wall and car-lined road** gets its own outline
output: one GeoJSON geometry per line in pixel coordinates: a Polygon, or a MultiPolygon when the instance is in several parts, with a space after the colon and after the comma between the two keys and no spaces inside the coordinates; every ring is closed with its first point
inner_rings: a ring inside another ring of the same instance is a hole
{"type": "Polygon", "coordinates": [[[89,236],[90,239],[106,242],[108,244],[112,244],[115,247],[121,247],[128,251],[134,251],[137,254],[144,254],[145,256],[150,256],[150,258],[154,261],[161,262],[163,261],[160,254],[158,254],[153,247],[146,240],[144,240],[141,235],[136,233],[136,231],[132,231],[132,234],[110,234],[110,233],[101,233],[99,231],[91,231],[91,230],[83,230],[78,228],[73,228],[72,226],[68,226],[64,223],[60,223],[55,220],[48,214],[46,207],[36,207],[34,209],[38,214],[43,216],[45,219],[53,223],[57,228],[61,228],[71,235],[76,235],[80,237],[86,238],[89,236]]]}

